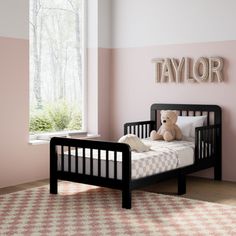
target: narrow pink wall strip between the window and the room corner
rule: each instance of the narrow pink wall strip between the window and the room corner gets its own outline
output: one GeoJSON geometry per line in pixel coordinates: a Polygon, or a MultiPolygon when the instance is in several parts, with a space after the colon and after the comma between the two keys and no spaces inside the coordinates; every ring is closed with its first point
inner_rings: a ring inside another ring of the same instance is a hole
{"type": "Polygon", "coordinates": [[[109,140],[111,50],[89,48],[87,58],[88,132],[109,140]]]}

